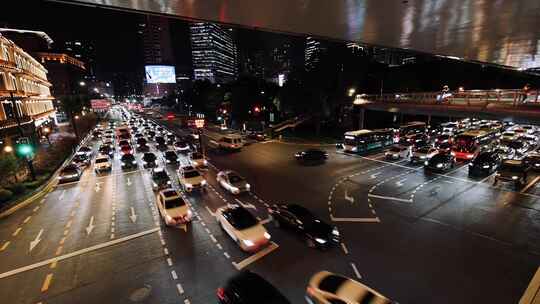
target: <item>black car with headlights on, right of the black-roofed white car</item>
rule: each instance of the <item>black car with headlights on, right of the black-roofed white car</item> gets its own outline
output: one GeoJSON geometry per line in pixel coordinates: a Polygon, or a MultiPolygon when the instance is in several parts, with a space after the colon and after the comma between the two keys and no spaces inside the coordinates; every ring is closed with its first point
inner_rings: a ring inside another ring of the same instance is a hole
{"type": "Polygon", "coordinates": [[[339,243],[339,231],[308,209],[296,205],[273,205],[268,208],[276,227],[289,228],[302,235],[309,247],[326,248],[339,243]]]}

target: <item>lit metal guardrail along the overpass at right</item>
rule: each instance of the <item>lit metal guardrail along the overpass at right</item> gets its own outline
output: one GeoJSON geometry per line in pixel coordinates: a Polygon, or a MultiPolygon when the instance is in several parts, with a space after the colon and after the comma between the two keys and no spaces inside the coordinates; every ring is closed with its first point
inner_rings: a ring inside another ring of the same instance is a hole
{"type": "Polygon", "coordinates": [[[523,90],[468,90],[443,94],[442,92],[392,93],[382,95],[363,95],[368,102],[447,104],[462,106],[487,106],[488,104],[522,106],[540,106],[540,90],[525,93],[523,90]]]}

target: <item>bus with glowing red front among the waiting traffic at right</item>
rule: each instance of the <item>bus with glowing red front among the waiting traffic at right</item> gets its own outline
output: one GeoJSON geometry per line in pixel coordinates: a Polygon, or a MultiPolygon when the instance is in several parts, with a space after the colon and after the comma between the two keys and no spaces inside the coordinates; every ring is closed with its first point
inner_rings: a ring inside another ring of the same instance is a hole
{"type": "Polygon", "coordinates": [[[463,132],[454,138],[452,153],[459,160],[470,160],[482,147],[490,145],[495,136],[496,132],[493,130],[463,132]]]}

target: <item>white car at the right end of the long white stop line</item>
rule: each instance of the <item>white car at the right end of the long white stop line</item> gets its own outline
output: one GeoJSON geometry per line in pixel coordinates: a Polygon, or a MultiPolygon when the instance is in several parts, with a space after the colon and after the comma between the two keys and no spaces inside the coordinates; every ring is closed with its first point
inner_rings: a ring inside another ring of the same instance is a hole
{"type": "Polygon", "coordinates": [[[159,191],[156,204],[159,214],[167,226],[177,226],[189,223],[193,216],[186,201],[178,191],[172,188],[159,191]]]}

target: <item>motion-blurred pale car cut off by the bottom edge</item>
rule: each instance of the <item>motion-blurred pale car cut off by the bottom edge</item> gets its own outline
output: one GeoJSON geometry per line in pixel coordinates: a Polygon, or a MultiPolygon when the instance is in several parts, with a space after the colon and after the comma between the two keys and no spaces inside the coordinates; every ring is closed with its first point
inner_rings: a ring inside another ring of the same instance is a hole
{"type": "Polygon", "coordinates": [[[309,280],[306,300],[311,304],[390,304],[391,300],[353,279],[328,271],[314,274],[309,280]]]}

